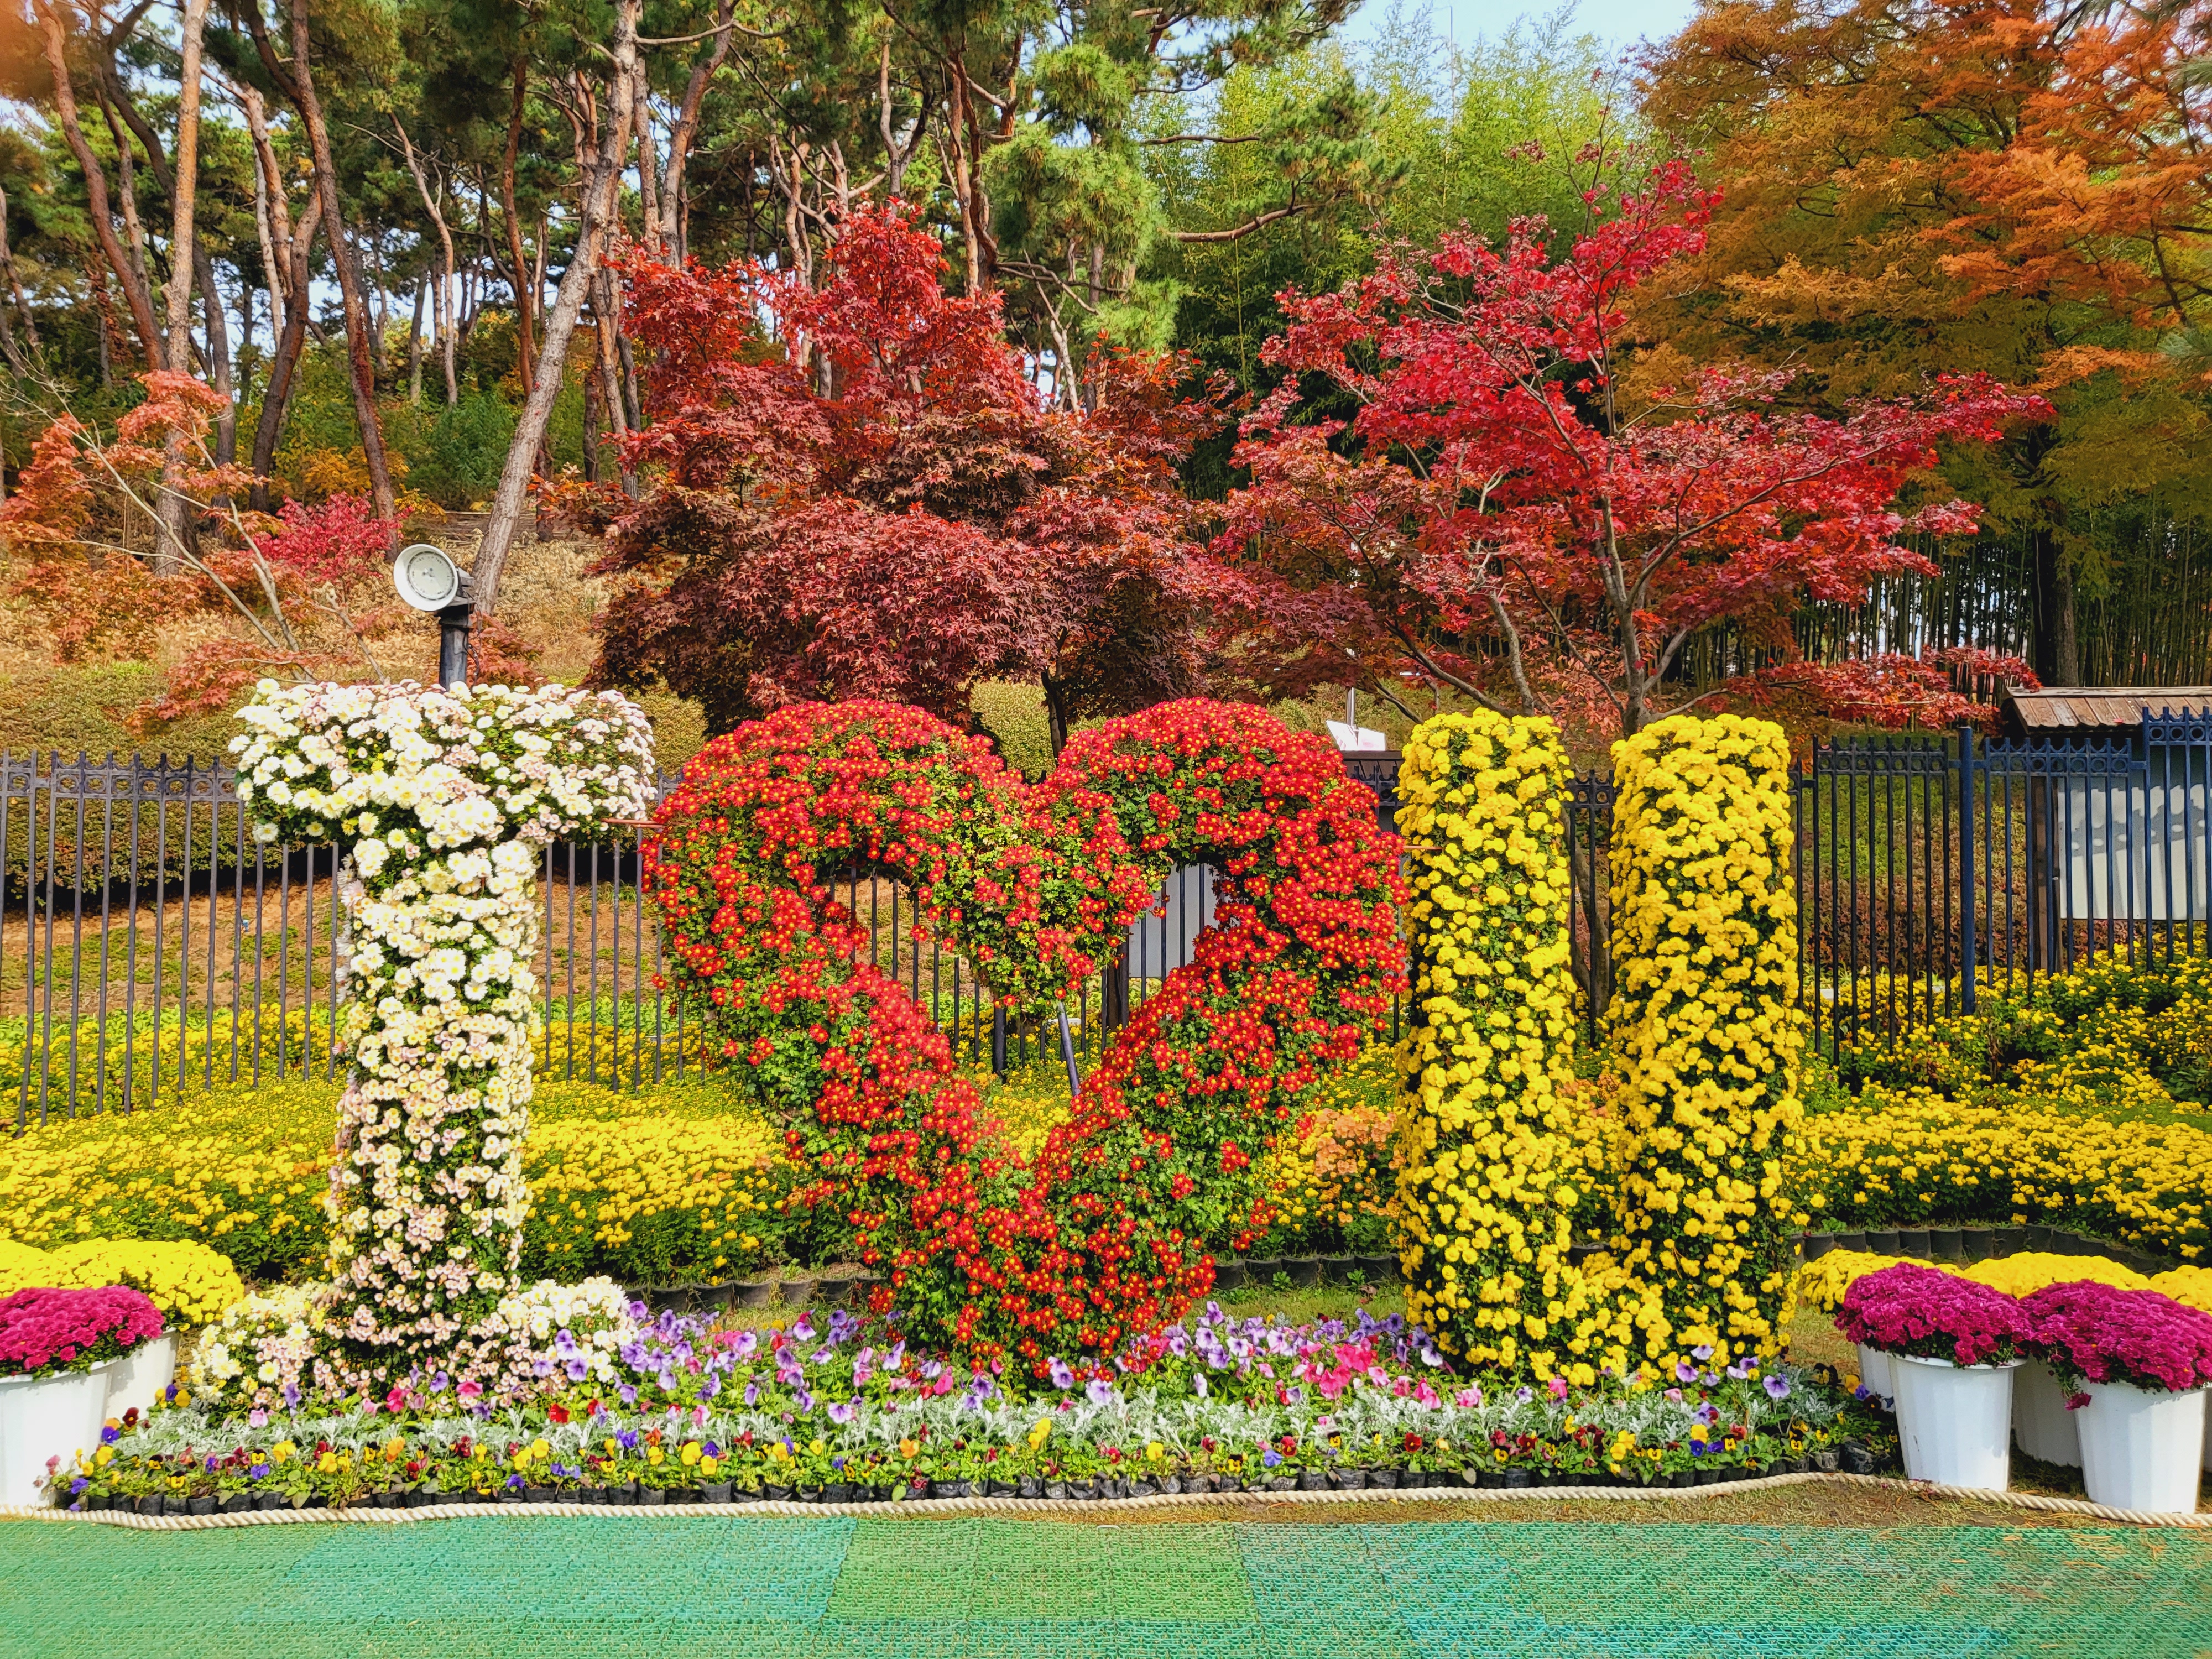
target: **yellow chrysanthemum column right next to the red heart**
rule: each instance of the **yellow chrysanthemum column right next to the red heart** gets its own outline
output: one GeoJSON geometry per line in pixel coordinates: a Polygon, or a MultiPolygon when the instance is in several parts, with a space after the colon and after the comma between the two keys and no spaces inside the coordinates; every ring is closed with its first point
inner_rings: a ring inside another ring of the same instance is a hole
{"type": "Polygon", "coordinates": [[[1588,1137],[1559,1095],[1573,1044],[1562,812],[1548,719],[1447,714],[1398,772],[1413,902],[1400,1048],[1407,1316],[1469,1365],[1593,1383],[1628,1321],[1568,1263],[1588,1137]]]}

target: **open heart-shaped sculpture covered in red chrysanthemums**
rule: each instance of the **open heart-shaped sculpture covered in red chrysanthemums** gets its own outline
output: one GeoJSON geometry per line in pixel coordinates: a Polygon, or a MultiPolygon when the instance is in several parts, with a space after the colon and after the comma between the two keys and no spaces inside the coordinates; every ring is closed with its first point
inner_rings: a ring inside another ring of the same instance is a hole
{"type": "Polygon", "coordinates": [[[1261,1219],[1254,1164],[1402,984],[1398,843],[1321,737],[1237,703],[1077,734],[1029,787],[896,703],[803,703],[717,739],[646,845],[670,978],[836,1206],[878,1298],[969,1354],[1110,1352],[1212,1285],[1203,1239],[1261,1219]],[[922,938],[1044,1013],[1177,865],[1212,925],[1031,1164],[836,900],[914,887],[922,938]]]}

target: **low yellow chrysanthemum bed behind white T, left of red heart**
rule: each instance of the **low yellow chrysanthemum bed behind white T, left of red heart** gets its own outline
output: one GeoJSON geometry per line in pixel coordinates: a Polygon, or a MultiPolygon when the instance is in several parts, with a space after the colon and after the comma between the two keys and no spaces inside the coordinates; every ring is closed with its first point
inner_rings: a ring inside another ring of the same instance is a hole
{"type": "MultiPolygon", "coordinates": [[[[248,1279],[319,1270],[336,1133],[330,1084],[241,1084],[33,1126],[0,1141],[0,1217],[29,1245],[179,1239],[248,1279]]],[[[646,1095],[540,1084],[522,1272],[624,1283],[732,1279],[783,1261],[794,1170],[781,1135],[712,1084],[646,1095]]]]}

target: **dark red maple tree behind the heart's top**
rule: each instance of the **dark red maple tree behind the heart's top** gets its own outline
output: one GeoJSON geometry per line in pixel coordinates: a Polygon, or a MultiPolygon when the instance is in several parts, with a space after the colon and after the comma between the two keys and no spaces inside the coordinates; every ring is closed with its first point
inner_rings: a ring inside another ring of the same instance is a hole
{"type": "Polygon", "coordinates": [[[843,223],[818,288],[626,261],[655,407],[628,467],[659,482],[611,524],[595,679],[664,679],[712,730],[847,697],[960,721],[980,679],[1040,679],[1055,748],[1197,688],[1175,467],[1219,407],[1108,354],[1084,414],[1051,411],[1000,296],[942,272],[896,204],[843,223]]]}

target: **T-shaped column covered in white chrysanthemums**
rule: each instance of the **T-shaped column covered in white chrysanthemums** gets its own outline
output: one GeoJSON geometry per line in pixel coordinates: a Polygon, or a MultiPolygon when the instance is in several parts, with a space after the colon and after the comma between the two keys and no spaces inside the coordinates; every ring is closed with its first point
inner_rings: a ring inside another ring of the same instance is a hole
{"type": "Polygon", "coordinates": [[[538,863],[639,816],[644,714],[613,692],[261,681],[232,743],[263,841],[336,841],[354,1068],[330,1170],[325,1391],[500,1365],[529,1186],[538,863]]]}

